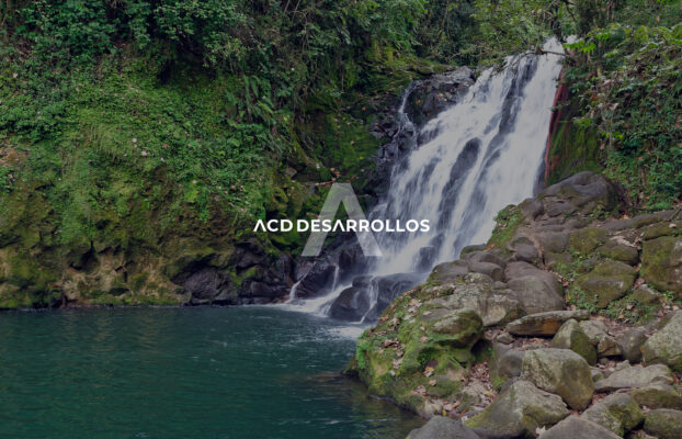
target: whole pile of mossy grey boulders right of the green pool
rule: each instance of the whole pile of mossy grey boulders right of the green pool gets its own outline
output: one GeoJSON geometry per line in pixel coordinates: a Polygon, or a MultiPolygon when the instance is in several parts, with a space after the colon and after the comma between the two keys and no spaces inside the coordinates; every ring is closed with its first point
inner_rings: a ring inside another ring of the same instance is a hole
{"type": "Polygon", "coordinates": [[[649,417],[679,421],[682,213],[625,217],[616,192],[580,172],[507,207],[487,245],[389,305],[348,372],[482,438],[623,437],[652,430],[649,417]]]}

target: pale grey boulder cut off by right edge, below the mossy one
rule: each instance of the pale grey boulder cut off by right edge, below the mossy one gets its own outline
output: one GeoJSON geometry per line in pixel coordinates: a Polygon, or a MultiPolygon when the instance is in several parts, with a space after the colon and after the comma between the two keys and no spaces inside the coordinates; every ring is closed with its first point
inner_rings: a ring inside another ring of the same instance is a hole
{"type": "Polygon", "coordinates": [[[682,312],[674,313],[668,324],[644,344],[641,352],[647,364],[668,364],[682,372],[682,312]]]}

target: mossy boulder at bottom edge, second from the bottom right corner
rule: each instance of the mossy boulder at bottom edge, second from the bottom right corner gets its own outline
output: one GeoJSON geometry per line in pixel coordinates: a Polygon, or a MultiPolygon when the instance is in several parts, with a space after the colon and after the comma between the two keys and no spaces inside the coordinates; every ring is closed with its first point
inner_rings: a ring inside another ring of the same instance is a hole
{"type": "Polygon", "coordinates": [[[644,420],[644,413],[630,395],[614,393],[584,410],[581,418],[624,436],[644,420]]]}

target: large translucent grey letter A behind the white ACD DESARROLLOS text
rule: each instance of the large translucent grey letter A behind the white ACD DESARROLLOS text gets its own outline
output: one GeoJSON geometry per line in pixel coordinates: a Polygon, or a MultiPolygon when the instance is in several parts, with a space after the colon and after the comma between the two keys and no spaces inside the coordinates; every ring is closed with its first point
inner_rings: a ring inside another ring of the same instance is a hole
{"type": "MultiPolygon", "coordinates": [[[[343,207],[345,209],[345,212],[348,213],[350,219],[355,219],[356,222],[367,221],[367,218],[365,217],[365,213],[360,206],[357,196],[355,196],[355,192],[353,192],[353,188],[350,183],[332,184],[329,193],[327,194],[327,200],[325,200],[322,212],[320,212],[320,219],[322,222],[325,219],[333,222],[341,203],[343,203],[343,207]]],[[[325,238],[327,237],[327,232],[311,232],[302,255],[318,256],[322,250],[322,245],[325,244],[325,238]]],[[[382,256],[382,250],[379,250],[379,246],[376,244],[376,239],[374,239],[374,235],[372,234],[372,232],[356,230],[355,236],[357,237],[360,247],[362,248],[362,251],[365,256],[382,256]]]]}

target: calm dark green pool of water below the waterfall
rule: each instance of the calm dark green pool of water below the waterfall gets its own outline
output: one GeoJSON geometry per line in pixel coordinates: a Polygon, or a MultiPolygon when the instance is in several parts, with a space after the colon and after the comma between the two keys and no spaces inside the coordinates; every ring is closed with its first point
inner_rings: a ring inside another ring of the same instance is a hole
{"type": "Polygon", "coordinates": [[[276,307],[0,314],[2,438],[403,438],[339,375],[348,327],[276,307]]]}

